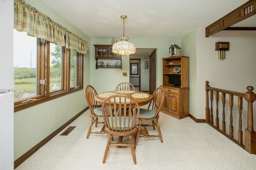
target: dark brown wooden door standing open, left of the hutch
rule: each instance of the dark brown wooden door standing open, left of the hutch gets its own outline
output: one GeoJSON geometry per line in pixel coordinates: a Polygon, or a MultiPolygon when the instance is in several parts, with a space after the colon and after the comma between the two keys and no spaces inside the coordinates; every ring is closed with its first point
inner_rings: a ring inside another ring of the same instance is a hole
{"type": "Polygon", "coordinates": [[[149,93],[156,90],[156,49],[149,55],[149,93]]]}

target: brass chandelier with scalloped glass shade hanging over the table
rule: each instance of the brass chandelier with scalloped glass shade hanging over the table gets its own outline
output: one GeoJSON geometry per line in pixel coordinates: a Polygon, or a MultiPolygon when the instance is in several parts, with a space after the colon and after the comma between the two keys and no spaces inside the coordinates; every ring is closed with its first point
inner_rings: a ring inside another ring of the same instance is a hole
{"type": "MultiPolygon", "coordinates": [[[[121,15],[121,18],[124,20],[127,18],[127,16],[121,15]]],[[[123,36],[121,36],[120,39],[121,41],[113,44],[112,53],[115,53],[117,55],[131,55],[136,52],[136,47],[132,43],[129,43],[127,41],[129,37],[124,36],[124,29],[123,36]]]]}

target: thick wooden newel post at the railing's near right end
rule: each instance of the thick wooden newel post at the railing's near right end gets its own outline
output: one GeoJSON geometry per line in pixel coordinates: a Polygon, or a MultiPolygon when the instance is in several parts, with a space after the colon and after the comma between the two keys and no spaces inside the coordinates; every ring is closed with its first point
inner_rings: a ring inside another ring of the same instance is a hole
{"type": "Polygon", "coordinates": [[[247,128],[245,129],[245,150],[250,154],[256,154],[256,132],[253,129],[253,109],[252,103],[256,100],[256,94],[252,92],[254,88],[247,86],[248,92],[244,94],[244,98],[248,103],[247,110],[247,128]]]}

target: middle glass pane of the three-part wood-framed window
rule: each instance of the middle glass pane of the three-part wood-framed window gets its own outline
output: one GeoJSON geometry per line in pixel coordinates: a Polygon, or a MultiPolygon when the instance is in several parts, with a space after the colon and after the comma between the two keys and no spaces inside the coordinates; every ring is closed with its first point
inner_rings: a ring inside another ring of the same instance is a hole
{"type": "Polygon", "coordinates": [[[50,92],[62,89],[62,47],[50,43],[50,92]]]}

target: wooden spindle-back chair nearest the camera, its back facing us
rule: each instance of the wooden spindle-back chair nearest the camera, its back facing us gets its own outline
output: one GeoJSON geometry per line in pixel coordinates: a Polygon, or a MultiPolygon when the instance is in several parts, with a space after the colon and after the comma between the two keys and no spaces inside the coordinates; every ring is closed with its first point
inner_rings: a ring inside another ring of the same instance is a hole
{"type": "Polygon", "coordinates": [[[116,94],[104,100],[102,103],[102,115],[105,122],[105,130],[109,133],[109,137],[102,161],[103,164],[106,162],[110,146],[131,147],[133,162],[136,164],[135,139],[138,130],[137,123],[139,114],[140,107],[131,96],[116,94]],[[108,107],[109,109],[107,109],[108,107]],[[108,110],[110,110],[110,113],[108,113],[108,110]],[[118,142],[111,142],[113,135],[119,137],[118,142]],[[133,135],[134,141],[132,140],[133,135]],[[124,142],[123,137],[128,137],[129,140],[124,142]]]}

